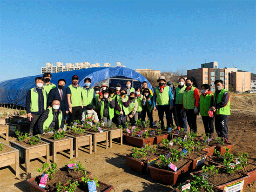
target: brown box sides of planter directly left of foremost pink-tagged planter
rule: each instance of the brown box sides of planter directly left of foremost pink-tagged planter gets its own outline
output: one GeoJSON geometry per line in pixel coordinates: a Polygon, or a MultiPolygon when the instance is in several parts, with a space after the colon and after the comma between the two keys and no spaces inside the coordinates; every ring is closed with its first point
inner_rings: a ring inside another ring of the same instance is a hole
{"type": "Polygon", "coordinates": [[[154,164],[158,159],[158,157],[155,157],[153,159],[148,159],[148,161],[139,161],[135,158],[132,157],[132,153],[125,155],[126,159],[126,164],[128,167],[138,171],[138,172],[147,172],[148,171],[148,166],[154,164]]]}

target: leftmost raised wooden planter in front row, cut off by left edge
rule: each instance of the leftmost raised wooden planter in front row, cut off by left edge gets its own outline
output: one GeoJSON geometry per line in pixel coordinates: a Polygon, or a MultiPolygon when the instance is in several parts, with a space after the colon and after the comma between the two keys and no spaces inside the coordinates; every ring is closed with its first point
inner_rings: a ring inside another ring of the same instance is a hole
{"type": "MultiPolygon", "coordinates": [[[[4,143],[2,143],[2,144],[4,144],[4,143]]],[[[9,148],[13,149],[13,151],[0,154],[0,168],[4,167],[4,166],[10,166],[10,165],[15,164],[15,175],[18,176],[18,175],[20,175],[19,150],[15,149],[11,146],[7,146],[6,144],[4,144],[4,145],[5,145],[4,147],[9,147],[9,148]]]]}

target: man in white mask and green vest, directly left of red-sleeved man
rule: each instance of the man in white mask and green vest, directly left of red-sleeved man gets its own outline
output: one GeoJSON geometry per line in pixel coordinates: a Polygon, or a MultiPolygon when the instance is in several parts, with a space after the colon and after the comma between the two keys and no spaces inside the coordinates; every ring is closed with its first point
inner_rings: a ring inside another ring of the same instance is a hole
{"type": "Polygon", "coordinates": [[[176,88],[175,95],[174,95],[174,105],[176,107],[177,116],[178,116],[178,124],[176,124],[177,128],[179,129],[182,127],[184,132],[187,132],[187,116],[184,111],[182,111],[183,107],[183,93],[187,86],[185,84],[185,78],[181,77],[179,79],[179,85],[176,88]]]}

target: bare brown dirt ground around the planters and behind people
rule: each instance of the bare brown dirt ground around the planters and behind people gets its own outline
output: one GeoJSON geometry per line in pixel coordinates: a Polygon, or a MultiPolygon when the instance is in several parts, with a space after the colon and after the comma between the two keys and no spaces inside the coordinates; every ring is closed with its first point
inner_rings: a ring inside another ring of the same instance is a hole
{"type": "MultiPolygon", "coordinates": [[[[235,144],[232,153],[240,152],[249,154],[249,162],[256,162],[256,98],[255,95],[231,94],[231,115],[229,116],[229,142],[235,144]]],[[[10,109],[0,108],[0,112],[10,109]]],[[[157,112],[153,113],[154,120],[158,120],[157,112]]],[[[166,120],[165,120],[166,123],[166,120]]],[[[201,116],[197,118],[198,134],[204,132],[201,116]]],[[[188,128],[189,130],[189,128],[188,128]]],[[[216,133],[215,133],[215,136],[216,133]]],[[[5,135],[0,134],[0,142],[9,144],[5,135]]],[[[15,139],[10,137],[10,140],[15,139]]],[[[81,161],[84,167],[92,172],[92,177],[113,185],[115,192],[168,192],[173,186],[162,185],[151,179],[150,173],[139,173],[126,165],[124,154],[130,153],[133,146],[127,143],[121,146],[117,142],[112,148],[105,149],[105,143],[97,145],[97,152],[88,153],[88,147],[79,149],[79,157],[73,158],[81,161]]],[[[52,159],[52,156],[50,156],[52,159]]],[[[69,161],[69,152],[57,153],[57,167],[60,168],[69,161]]],[[[28,192],[29,185],[26,180],[39,175],[36,168],[41,168],[46,162],[45,158],[30,161],[31,172],[25,172],[25,164],[20,164],[20,176],[16,177],[14,165],[0,168],[0,191],[1,192],[28,192]]],[[[188,179],[186,174],[181,180],[188,179]]],[[[244,192],[256,192],[256,182],[246,187],[244,192]]]]}

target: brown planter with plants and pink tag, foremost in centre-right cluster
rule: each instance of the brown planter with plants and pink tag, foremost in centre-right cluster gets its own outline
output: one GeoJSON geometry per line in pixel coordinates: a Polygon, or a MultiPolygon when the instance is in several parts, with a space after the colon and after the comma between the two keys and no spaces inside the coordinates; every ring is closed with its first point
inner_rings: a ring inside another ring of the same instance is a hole
{"type": "Polygon", "coordinates": [[[159,160],[148,167],[151,178],[168,185],[175,185],[178,177],[189,170],[191,160],[184,157],[185,154],[176,149],[171,149],[166,156],[160,155],[159,160]]]}

